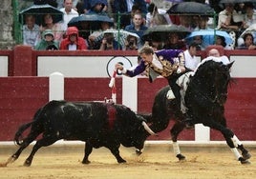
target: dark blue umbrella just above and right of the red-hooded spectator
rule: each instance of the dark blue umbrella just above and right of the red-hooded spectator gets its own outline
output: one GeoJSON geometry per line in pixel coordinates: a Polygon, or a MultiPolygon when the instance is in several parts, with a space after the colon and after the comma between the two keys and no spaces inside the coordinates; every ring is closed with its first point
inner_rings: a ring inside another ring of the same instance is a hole
{"type": "Polygon", "coordinates": [[[89,22],[91,30],[99,30],[101,22],[107,22],[110,26],[114,26],[114,21],[107,15],[103,14],[82,14],[74,17],[68,23],[68,27],[75,26],[79,27],[81,22],[89,22]]]}

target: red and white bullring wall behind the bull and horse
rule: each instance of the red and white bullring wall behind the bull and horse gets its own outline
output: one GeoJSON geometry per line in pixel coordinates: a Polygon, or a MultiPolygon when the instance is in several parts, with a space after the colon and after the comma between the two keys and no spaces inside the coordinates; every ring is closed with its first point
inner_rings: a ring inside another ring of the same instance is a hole
{"type": "MultiPolygon", "coordinates": [[[[235,60],[232,76],[236,84],[229,89],[225,105],[227,125],[241,140],[256,140],[256,51],[228,50],[224,54],[235,60]]],[[[127,58],[137,64],[136,51],[36,51],[26,46],[0,51],[0,141],[11,141],[16,129],[31,121],[32,115],[49,101],[49,75],[54,71],[64,74],[64,99],[94,101],[111,97],[108,87],[111,62],[127,58]],[[114,60],[113,60],[114,59],[114,60]]],[[[205,52],[198,57],[203,59],[205,52]]],[[[124,59],[124,61],[126,61],[124,59]]],[[[117,77],[117,103],[139,112],[150,112],[155,93],[167,85],[158,78],[150,84],[145,77],[129,79],[117,77]],[[130,101],[129,101],[130,100],[130,101]]],[[[172,122],[170,122],[170,125],[172,122]]],[[[195,130],[183,131],[181,140],[195,140],[195,130]]],[[[224,140],[212,129],[210,140],[224,140]]],[[[205,136],[203,136],[205,138],[205,136]]],[[[207,138],[207,137],[206,137],[207,138]]],[[[151,140],[169,140],[169,130],[151,140]]]]}

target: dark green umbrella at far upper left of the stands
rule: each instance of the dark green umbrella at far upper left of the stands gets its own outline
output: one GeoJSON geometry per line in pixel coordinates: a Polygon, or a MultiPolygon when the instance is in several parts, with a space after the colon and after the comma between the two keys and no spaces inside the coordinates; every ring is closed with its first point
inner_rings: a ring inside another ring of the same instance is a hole
{"type": "Polygon", "coordinates": [[[20,17],[21,17],[21,22],[23,22],[25,20],[25,15],[26,14],[32,14],[35,16],[35,23],[37,25],[41,25],[42,24],[42,20],[43,20],[43,15],[45,14],[52,14],[53,15],[53,22],[57,23],[59,21],[63,20],[63,12],[60,10],[55,9],[54,7],[52,7],[51,5],[32,5],[32,7],[25,9],[25,10],[21,10],[20,11],[20,17]]]}

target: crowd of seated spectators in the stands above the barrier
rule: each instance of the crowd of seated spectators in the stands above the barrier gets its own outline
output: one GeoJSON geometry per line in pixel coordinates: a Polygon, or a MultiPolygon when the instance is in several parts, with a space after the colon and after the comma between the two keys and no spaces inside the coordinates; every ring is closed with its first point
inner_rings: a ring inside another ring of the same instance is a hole
{"type": "Polygon", "coordinates": [[[175,24],[188,31],[214,29],[226,31],[230,34],[230,38],[233,38],[233,44],[226,44],[224,36],[221,35],[216,36],[214,41],[216,45],[221,45],[226,50],[256,49],[256,12],[253,3],[218,4],[217,1],[202,0],[197,2],[208,3],[217,12],[216,23],[213,22],[212,16],[170,15],[166,10],[159,9],[154,3],[145,0],[35,0],[34,4],[48,3],[62,11],[63,20],[54,22],[53,14],[47,13],[43,16],[42,24],[38,26],[32,14],[25,15],[22,29],[23,44],[32,46],[34,50],[138,50],[144,43],[157,47],[157,50],[190,50],[191,48],[205,50],[209,45],[204,42],[203,35],[198,35],[193,38],[194,45],[191,46],[191,42],[188,43],[179,32],[175,31],[171,31],[161,42],[154,40],[146,42],[143,39],[143,33],[148,29],[175,24]],[[69,27],[71,19],[84,14],[106,15],[113,22],[100,22],[97,30],[91,29],[88,22],[80,23],[79,27],[69,27]],[[247,30],[251,27],[255,27],[254,31],[247,30]],[[104,38],[100,42],[95,41],[104,30],[112,29],[130,31],[137,34],[139,39],[129,35],[122,45],[114,34],[104,33],[104,38]],[[197,47],[194,47],[195,45],[197,47]]]}

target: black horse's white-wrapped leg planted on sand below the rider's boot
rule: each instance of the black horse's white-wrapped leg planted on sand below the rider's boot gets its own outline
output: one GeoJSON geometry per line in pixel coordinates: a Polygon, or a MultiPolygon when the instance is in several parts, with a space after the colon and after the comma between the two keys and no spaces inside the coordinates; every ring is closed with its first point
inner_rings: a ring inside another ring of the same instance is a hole
{"type": "Polygon", "coordinates": [[[175,156],[180,160],[185,160],[185,156],[181,154],[180,146],[177,142],[178,135],[181,133],[181,131],[184,129],[184,125],[177,122],[173,126],[173,128],[170,130],[172,141],[173,141],[173,151],[175,156]]]}

